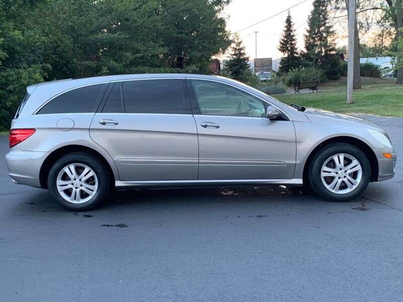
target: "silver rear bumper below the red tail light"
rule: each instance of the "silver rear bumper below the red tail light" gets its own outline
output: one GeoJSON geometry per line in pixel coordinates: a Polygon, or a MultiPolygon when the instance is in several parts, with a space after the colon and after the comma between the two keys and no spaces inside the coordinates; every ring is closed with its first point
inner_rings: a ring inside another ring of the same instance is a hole
{"type": "Polygon", "coordinates": [[[48,152],[23,151],[18,146],[6,154],[6,166],[14,183],[40,188],[39,171],[48,152]]]}

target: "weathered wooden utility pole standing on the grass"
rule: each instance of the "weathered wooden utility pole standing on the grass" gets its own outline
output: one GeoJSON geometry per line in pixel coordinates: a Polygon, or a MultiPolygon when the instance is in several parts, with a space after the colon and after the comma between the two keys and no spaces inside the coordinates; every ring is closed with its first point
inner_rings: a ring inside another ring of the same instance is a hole
{"type": "Polygon", "coordinates": [[[353,103],[354,85],[354,30],[356,22],[356,2],[349,0],[349,58],[347,62],[347,104],[353,103]]]}

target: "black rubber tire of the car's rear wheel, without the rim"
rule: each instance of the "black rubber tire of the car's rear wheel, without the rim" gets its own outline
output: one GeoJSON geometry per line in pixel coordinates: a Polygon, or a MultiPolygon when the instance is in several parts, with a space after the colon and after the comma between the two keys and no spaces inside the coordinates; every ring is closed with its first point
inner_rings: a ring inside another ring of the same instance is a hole
{"type": "Polygon", "coordinates": [[[54,163],[49,171],[47,185],[52,197],[63,207],[72,211],[88,211],[99,206],[108,196],[111,188],[111,179],[108,170],[97,157],[88,153],[77,152],[65,155],[54,163]],[[94,196],[83,203],[73,203],[65,200],[58,192],[56,185],[59,172],[69,164],[75,163],[84,164],[91,168],[96,174],[98,181],[98,188],[94,196]]]}

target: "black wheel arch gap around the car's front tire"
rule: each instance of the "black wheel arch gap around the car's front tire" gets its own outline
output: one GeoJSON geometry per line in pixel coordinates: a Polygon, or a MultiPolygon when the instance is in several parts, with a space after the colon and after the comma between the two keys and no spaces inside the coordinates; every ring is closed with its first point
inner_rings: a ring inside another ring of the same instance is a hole
{"type": "Polygon", "coordinates": [[[378,167],[378,160],[376,158],[375,153],[373,152],[373,150],[371,149],[371,147],[365,143],[364,141],[362,141],[361,139],[358,139],[356,137],[351,137],[351,136],[335,136],[335,137],[331,137],[328,138],[322,142],[320,142],[318,145],[316,145],[313,150],[311,151],[311,153],[309,154],[307,160],[305,161],[304,164],[304,169],[303,169],[303,183],[308,183],[308,168],[310,166],[310,164],[312,163],[313,159],[315,158],[315,156],[320,152],[320,150],[330,144],[333,143],[348,143],[351,144],[353,146],[356,146],[357,148],[359,148],[362,152],[364,152],[364,154],[368,157],[368,160],[370,162],[371,165],[371,182],[377,181],[378,180],[378,172],[379,172],[379,167],[378,167]]]}

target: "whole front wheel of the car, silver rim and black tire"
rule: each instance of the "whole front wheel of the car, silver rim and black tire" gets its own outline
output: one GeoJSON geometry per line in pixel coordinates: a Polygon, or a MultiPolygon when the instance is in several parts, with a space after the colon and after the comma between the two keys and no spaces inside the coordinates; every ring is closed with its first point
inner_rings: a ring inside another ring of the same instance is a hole
{"type": "Polygon", "coordinates": [[[357,147],[338,143],[325,147],[312,161],[308,171],[310,186],[323,198],[347,201],[368,186],[371,166],[357,147]]]}

